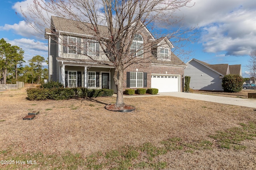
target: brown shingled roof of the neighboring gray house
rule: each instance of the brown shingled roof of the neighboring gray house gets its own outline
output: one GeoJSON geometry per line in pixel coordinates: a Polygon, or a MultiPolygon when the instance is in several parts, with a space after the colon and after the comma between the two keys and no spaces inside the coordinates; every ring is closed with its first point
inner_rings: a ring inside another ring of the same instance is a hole
{"type": "MultiPolygon", "coordinates": [[[[228,64],[208,64],[203,61],[197,60],[197,59],[191,59],[190,61],[197,61],[198,63],[201,63],[202,65],[210,68],[211,70],[219,73],[222,76],[225,76],[227,74],[238,74],[241,75],[241,64],[236,65],[228,65],[228,64]]],[[[188,61],[188,63],[190,62],[188,61]]]]}

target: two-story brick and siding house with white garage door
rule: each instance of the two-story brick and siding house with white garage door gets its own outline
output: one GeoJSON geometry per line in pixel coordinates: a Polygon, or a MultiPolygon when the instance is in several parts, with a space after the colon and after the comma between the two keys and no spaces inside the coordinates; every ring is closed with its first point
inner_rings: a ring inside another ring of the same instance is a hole
{"type": "MultiPolygon", "coordinates": [[[[114,65],[102,53],[106,49],[102,49],[90,31],[74,27],[69,22],[70,20],[52,16],[51,27],[45,30],[45,37],[48,39],[49,80],[61,82],[65,87],[109,88],[116,92],[114,65]],[[98,62],[93,61],[92,57],[98,62]]],[[[108,27],[100,26],[99,30],[104,34],[108,32],[108,27]]],[[[146,27],[142,32],[134,34],[130,47],[131,51],[137,49],[134,57],[151,56],[154,60],[128,66],[124,71],[124,89],[182,91],[186,64],[172,53],[172,48],[169,39],[155,39],[146,27]],[[145,53],[144,47],[149,41],[155,44],[150,48],[150,53],[145,53]]]]}

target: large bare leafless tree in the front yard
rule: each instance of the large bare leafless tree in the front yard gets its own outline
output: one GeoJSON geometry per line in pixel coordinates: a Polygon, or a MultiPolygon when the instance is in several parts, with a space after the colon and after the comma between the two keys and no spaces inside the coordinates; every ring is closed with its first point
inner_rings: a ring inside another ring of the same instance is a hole
{"type": "MultiPolygon", "coordinates": [[[[160,37],[172,39],[176,49],[182,51],[186,41],[191,40],[193,28],[182,25],[182,17],[176,12],[191,0],[34,0],[27,11],[23,11],[25,20],[38,32],[44,25],[49,25],[49,16],[59,16],[69,19],[71,24],[80,31],[90,33],[99,42],[108,61],[94,57],[90,59],[99,64],[114,65],[114,83],[117,88],[116,107],[125,106],[123,100],[124,70],[136,63],[154,62],[152,46],[160,37]],[[89,24],[87,24],[89,23],[89,24]],[[107,31],[102,31],[102,25],[107,31]],[[150,30],[156,41],[148,40],[142,47],[133,48],[132,38],[142,29],[150,30]],[[180,47],[180,48],[178,48],[180,47]],[[134,57],[140,53],[144,57],[134,57]]],[[[65,44],[65,41],[58,43],[65,44]]],[[[178,52],[177,52],[178,53],[178,52]]],[[[187,54],[187,53],[186,53],[187,54]]],[[[186,56],[184,51],[180,55],[186,56]]],[[[84,55],[84,54],[81,54],[84,55]]],[[[179,55],[179,54],[178,54],[179,55]]]]}

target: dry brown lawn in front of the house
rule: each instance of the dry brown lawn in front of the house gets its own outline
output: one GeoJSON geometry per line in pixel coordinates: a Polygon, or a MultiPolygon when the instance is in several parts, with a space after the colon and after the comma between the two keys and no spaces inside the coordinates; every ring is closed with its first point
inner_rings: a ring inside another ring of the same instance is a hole
{"type": "MultiPolygon", "coordinates": [[[[163,97],[125,98],[136,107],[130,113],[108,111],[114,97],[30,101],[26,87],[0,91],[0,150],[61,154],[66,150],[84,157],[125,145],[141,146],[179,137],[193,142],[214,139],[216,131],[256,122],[256,109],[199,100],[163,97]],[[40,111],[33,120],[22,118],[40,111]]],[[[166,169],[256,169],[256,140],[242,141],[244,150],[174,150],[156,159],[168,162],[166,169]]],[[[4,158],[1,158],[4,159],[4,158]]],[[[0,165],[1,166],[1,165],[0,165]]]]}

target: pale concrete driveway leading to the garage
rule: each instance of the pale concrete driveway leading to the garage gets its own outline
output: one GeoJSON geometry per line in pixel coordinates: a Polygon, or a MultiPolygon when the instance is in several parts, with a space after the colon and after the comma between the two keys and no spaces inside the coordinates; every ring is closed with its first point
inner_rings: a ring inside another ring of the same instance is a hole
{"type": "Polygon", "coordinates": [[[207,94],[187,93],[187,92],[165,92],[165,93],[158,93],[157,95],[124,96],[124,98],[153,97],[153,96],[173,96],[173,97],[178,97],[178,98],[203,100],[203,101],[207,101],[207,102],[215,102],[215,103],[221,103],[221,104],[230,104],[230,105],[256,108],[256,99],[230,98],[230,97],[213,96],[213,95],[207,95],[207,94]]]}

